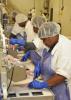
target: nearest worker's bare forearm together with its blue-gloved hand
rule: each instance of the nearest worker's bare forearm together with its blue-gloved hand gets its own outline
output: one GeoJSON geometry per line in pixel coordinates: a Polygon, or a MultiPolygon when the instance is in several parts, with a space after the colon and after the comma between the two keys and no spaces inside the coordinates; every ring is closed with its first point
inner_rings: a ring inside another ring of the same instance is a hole
{"type": "Polygon", "coordinates": [[[66,79],[65,77],[55,74],[47,81],[40,82],[37,80],[33,80],[31,83],[29,83],[28,86],[30,88],[37,88],[37,89],[48,88],[48,87],[53,87],[62,83],[65,79],[66,79]]]}

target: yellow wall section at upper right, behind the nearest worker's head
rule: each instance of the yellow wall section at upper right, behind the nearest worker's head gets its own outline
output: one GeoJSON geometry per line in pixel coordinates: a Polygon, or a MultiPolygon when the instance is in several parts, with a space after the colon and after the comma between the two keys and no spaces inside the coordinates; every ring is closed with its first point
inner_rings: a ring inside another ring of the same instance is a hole
{"type": "Polygon", "coordinates": [[[51,0],[53,20],[62,24],[62,34],[71,37],[71,0],[64,0],[64,10],[61,11],[62,0],[51,0]]]}

